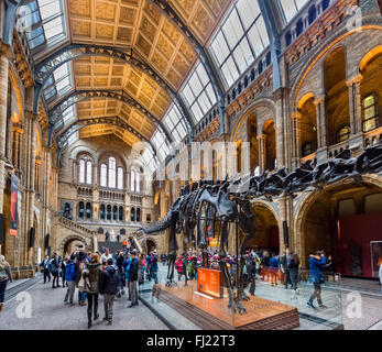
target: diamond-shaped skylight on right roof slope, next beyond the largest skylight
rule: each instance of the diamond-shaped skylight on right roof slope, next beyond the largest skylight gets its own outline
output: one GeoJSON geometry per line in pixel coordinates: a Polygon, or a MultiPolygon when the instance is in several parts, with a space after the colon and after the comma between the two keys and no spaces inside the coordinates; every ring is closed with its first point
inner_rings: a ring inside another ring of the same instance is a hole
{"type": "Polygon", "coordinates": [[[182,89],[182,95],[185,97],[186,105],[192,110],[196,122],[199,122],[216,105],[217,99],[203,64],[198,62],[195,67],[182,89]]]}

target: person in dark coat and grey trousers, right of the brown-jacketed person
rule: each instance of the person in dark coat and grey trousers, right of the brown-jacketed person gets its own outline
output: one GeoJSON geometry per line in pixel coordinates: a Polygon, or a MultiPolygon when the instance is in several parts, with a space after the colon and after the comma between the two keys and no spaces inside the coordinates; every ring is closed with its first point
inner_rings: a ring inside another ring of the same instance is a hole
{"type": "Polygon", "coordinates": [[[108,266],[101,276],[100,282],[100,294],[103,295],[103,308],[105,317],[103,320],[108,321],[108,324],[112,323],[112,308],[118,294],[118,284],[119,284],[119,273],[118,267],[113,265],[112,258],[109,258],[107,262],[108,266]]]}

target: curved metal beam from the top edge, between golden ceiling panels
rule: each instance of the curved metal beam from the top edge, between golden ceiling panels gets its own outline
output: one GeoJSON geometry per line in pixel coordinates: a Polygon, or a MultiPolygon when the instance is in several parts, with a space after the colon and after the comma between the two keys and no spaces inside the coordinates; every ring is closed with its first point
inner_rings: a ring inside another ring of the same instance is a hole
{"type": "Polygon", "coordinates": [[[229,131],[228,125],[226,125],[226,98],[223,92],[223,87],[217,75],[217,72],[214,69],[215,65],[208,55],[205,47],[197,40],[194,33],[188,29],[186,23],[177,14],[177,12],[172,8],[172,6],[166,0],[148,0],[149,2],[155,4],[161,12],[168,18],[168,20],[179,30],[184,37],[192,44],[196,54],[199,56],[200,62],[203,63],[215,90],[215,95],[218,100],[218,110],[220,116],[220,134],[226,134],[229,131]]]}

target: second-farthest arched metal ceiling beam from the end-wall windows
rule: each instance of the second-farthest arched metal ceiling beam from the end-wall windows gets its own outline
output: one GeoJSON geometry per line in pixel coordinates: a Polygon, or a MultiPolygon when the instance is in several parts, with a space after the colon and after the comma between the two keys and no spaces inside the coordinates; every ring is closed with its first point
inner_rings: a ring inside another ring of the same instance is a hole
{"type": "Polygon", "coordinates": [[[90,99],[114,99],[118,101],[122,101],[125,105],[133,107],[142,114],[144,114],[150,121],[152,121],[155,125],[160,127],[164,132],[168,143],[173,143],[174,139],[171,135],[168,129],[165,127],[162,121],[160,121],[156,117],[154,117],[148,109],[145,109],[141,103],[139,103],[134,98],[132,98],[128,92],[123,89],[120,91],[117,90],[108,90],[108,89],[90,89],[90,90],[75,90],[59,100],[48,113],[50,124],[55,129],[65,112],[66,109],[76,105],[77,102],[90,100],[90,99]]]}

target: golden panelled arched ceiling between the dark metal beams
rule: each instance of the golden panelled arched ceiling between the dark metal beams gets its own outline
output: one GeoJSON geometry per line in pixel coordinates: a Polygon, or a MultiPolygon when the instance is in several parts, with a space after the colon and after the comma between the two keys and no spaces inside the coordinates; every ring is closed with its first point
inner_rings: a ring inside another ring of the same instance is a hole
{"type": "MultiPolygon", "coordinates": [[[[168,1],[203,45],[231,2],[168,1]]],[[[70,43],[107,45],[123,52],[131,50],[174,91],[178,91],[197,61],[197,54],[184,33],[150,0],[67,0],[65,10],[70,43]]],[[[124,90],[159,120],[172,103],[172,98],[153,78],[123,61],[84,56],[73,59],[69,67],[72,90],[124,90]]],[[[48,100],[48,109],[62,98],[58,91],[57,97],[48,100]]],[[[151,139],[156,130],[143,113],[122,101],[97,98],[77,102],[75,109],[78,120],[118,116],[146,139],[151,139]]],[[[59,129],[58,133],[65,129],[59,129]]],[[[108,133],[119,133],[118,136],[130,145],[137,140],[135,135],[110,125],[84,128],[78,136],[85,139],[108,133]]]]}

